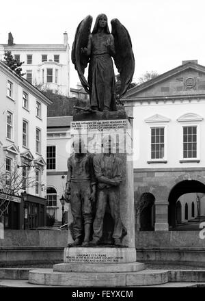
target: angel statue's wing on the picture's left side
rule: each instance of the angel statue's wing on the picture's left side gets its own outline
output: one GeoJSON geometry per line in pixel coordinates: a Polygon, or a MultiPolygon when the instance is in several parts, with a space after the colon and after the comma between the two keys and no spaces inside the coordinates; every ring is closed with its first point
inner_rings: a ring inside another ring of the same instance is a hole
{"type": "Polygon", "coordinates": [[[86,16],[77,27],[72,44],[71,60],[74,68],[77,70],[79,79],[85,91],[89,93],[89,85],[84,77],[84,71],[87,67],[89,58],[87,55],[81,53],[81,48],[87,47],[88,37],[90,35],[90,28],[92,25],[92,16],[86,16]]]}

